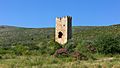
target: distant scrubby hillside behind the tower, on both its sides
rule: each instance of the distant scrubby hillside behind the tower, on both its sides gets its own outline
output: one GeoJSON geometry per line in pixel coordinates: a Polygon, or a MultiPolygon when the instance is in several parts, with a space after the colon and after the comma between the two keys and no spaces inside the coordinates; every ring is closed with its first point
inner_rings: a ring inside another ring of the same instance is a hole
{"type": "MultiPolygon", "coordinates": [[[[120,26],[76,26],[73,38],[93,40],[106,33],[120,33],[120,26]]],[[[43,40],[54,39],[54,28],[0,27],[0,45],[37,44],[43,40]]]]}

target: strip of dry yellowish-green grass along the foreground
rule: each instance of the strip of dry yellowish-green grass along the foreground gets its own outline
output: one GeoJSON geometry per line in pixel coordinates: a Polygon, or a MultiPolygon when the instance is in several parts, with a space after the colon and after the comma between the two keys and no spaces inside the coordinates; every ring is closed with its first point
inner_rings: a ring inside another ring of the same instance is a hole
{"type": "Polygon", "coordinates": [[[14,59],[1,59],[0,68],[120,68],[120,57],[98,60],[75,61],[72,58],[52,56],[17,56],[14,59]]]}

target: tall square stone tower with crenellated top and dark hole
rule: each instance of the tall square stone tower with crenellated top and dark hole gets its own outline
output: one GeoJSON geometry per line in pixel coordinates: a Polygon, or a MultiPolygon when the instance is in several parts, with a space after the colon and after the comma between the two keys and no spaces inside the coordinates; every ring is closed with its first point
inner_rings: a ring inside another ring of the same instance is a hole
{"type": "Polygon", "coordinates": [[[55,41],[64,45],[72,37],[72,17],[56,18],[55,41]]]}

